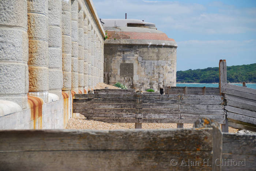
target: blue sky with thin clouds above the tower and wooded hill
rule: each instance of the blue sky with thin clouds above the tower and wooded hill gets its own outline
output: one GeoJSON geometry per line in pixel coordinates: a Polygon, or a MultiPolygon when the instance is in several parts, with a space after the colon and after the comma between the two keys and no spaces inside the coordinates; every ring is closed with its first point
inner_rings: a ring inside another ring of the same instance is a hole
{"type": "Polygon", "coordinates": [[[93,0],[99,18],[155,23],[173,38],[177,71],[256,63],[256,0],[93,0]]]}

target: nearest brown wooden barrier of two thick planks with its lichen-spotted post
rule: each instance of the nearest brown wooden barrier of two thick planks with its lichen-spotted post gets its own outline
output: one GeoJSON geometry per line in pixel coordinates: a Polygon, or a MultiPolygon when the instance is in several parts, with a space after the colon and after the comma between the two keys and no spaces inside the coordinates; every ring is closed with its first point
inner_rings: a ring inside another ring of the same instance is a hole
{"type": "Polygon", "coordinates": [[[219,132],[214,127],[0,130],[0,170],[220,170],[212,163],[221,158],[215,148],[222,146],[219,132]],[[183,160],[197,164],[184,166],[183,160]]]}

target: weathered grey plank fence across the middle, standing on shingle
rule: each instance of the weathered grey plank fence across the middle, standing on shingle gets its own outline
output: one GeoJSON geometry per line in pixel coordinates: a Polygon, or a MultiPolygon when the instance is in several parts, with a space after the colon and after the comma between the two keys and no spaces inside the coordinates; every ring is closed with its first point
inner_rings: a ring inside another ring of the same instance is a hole
{"type": "Polygon", "coordinates": [[[87,119],[124,123],[193,123],[208,117],[225,124],[223,96],[75,94],[73,112],[87,119]]]}

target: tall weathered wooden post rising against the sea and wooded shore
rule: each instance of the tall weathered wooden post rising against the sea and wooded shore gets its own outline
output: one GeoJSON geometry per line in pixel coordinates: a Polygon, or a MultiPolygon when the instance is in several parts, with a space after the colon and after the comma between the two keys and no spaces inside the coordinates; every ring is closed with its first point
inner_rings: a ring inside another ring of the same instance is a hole
{"type": "MultiPolygon", "coordinates": [[[[219,94],[221,93],[221,84],[227,83],[227,63],[226,60],[219,60],[219,94]]],[[[222,132],[229,132],[229,121],[226,116],[226,124],[221,125],[222,132]]]]}

